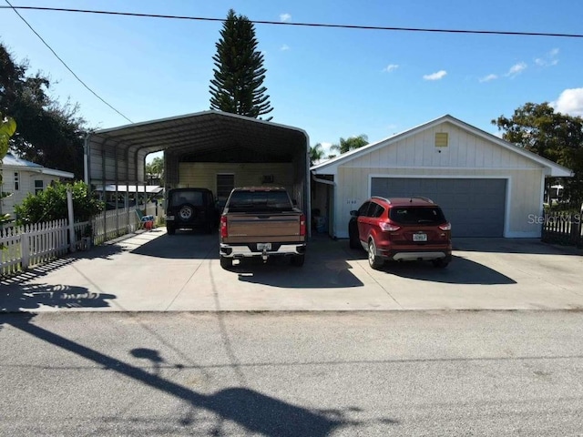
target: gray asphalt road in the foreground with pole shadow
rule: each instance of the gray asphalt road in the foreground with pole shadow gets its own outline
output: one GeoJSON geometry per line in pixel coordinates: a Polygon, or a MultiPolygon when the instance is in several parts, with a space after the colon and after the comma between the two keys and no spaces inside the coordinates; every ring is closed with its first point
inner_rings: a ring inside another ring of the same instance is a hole
{"type": "Polygon", "coordinates": [[[583,313],[0,314],[0,435],[581,435],[583,313]]]}

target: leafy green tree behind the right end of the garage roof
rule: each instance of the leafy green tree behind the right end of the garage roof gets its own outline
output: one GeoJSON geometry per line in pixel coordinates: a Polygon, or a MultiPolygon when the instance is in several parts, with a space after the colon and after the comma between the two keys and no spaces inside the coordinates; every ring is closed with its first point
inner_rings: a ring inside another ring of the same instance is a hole
{"type": "MultiPolygon", "coordinates": [[[[574,206],[583,200],[583,118],[555,112],[547,103],[527,103],[512,117],[492,120],[502,137],[518,147],[570,168],[573,178],[564,180],[566,197],[574,206]]],[[[547,179],[547,188],[552,180],[547,179]]]]}

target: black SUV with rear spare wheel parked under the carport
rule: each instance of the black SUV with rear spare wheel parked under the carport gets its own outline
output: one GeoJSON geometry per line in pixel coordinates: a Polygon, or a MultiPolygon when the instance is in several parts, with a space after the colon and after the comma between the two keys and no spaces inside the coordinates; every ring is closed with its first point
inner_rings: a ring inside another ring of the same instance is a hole
{"type": "Polygon", "coordinates": [[[210,234],[218,228],[217,208],[212,191],[207,188],[174,188],[166,197],[166,230],[204,229],[210,234]]]}

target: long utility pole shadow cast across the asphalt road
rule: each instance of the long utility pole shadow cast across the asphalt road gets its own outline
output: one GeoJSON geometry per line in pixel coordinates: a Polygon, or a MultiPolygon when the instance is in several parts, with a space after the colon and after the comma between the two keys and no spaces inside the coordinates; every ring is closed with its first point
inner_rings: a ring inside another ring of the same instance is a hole
{"type": "MultiPolygon", "coordinates": [[[[212,394],[200,394],[188,387],[162,378],[159,375],[159,370],[155,371],[154,374],[148,373],[148,371],[36,326],[30,323],[30,319],[31,315],[28,314],[0,315],[0,326],[9,324],[39,340],[45,340],[58,348],[93,361],[108,371],[116,371],[151,388],[186,401],[194,410],[203,409],[217,414],[218,420],[210,435],[224,435],[221,425],[225,421],[236,422],[247,432],[273,437],[303,437],[307,435],[323,437],[330,435],[337,428],[359,424],[345,419],[342,411],[312,411],[244,387],[231,387],[212,394]]],[[[158,351],[134,349],[130,353],[138,358],[156,361],[158,364],[163,361],[158,351]]],[[[180,423],[182,426],[195,426],[196,420],[194,418],[196,417],[198,417],[197,414],[189,414],[189,417],[180,423]]],[[[397,423],[389,419],[383,422],[397,423]]]]}

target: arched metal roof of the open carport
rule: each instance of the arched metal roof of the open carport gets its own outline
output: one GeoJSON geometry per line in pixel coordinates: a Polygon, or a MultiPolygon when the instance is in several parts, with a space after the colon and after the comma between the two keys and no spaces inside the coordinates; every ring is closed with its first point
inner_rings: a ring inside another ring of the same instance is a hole
{"type": "Polygon", "coordinates": [[[89,147],[115,146],[139,158],[171,149],[179,155],[215,154],[223,158],[241,150],[256,151],[273,159],[288,160],[302,147],[308,136],[297,127],[243,117],[220,111],[203,111],[178,117],[99,129],[87,137],[89,147]]]}

